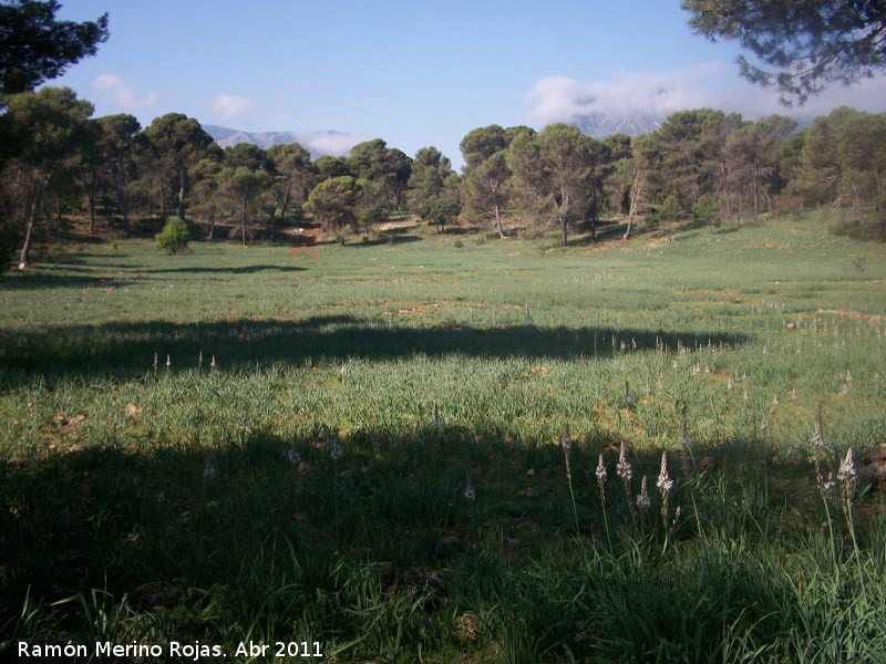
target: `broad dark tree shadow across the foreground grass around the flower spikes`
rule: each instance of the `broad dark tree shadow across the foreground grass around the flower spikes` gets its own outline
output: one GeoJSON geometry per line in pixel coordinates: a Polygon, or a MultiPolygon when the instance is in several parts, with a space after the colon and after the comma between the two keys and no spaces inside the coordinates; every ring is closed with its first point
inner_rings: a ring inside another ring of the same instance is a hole
{"type": "MultiPolygon", "coordinates": [[[[822,515],[794,490],[804,485],[763,471],[759,445],[720,450],[732,465],[703,476],[672,458],[669,522],[678,506],[682,518],[666,535],[656,489],[648,512],[629,508],[608,448],[604,519],[594,468],[606,445],[574,440],[574,494],[558,446],[443,425],[34,450],[0,463],[0,639],[100,636],[89,601],[65,602],[92,589],[117,606],[126,595],[135,614],[124,615],[154,641],[313,630],[352,656],[463,649],[451,624],[464,610],[483,616],[486,643],[507,661],[624,647],[635,661],[694,647],[690,660],[702,661],[724,624],[763,643],[787,635],[802,596],[790,575],[771,574],[780,542],[802,552],[815,537],[822,515]],[[812,535],[797,510],[811,513],[812,535]],[[22,624],[25,598],[31,609],[60,603],[45,623],[22,624]]],[[[636,494],[659,457],[629,458],[636,494]]]]}

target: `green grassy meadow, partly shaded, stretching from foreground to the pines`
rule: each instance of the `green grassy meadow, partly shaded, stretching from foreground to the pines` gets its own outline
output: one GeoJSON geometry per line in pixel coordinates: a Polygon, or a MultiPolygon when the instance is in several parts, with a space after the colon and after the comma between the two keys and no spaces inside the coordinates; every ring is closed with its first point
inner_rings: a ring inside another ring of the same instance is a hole
{"type": "Polygon", "coordinates": [[[72,242],[58,264],[0,279],[8,649],[886,652],[883,497],[859,486],[845,510],[838,487],[816,488],[810,447],[820,406],[834,471],[849,446],[861,459],[886,443],[882,245],[800,218],[567,250],[424,229],[192,248],[72,242]],[[697,469],[705,457],[717,469],[697,469]],[[648,512],[632,501],[641,473],[648,512]],[[465,613],[476,640],[454,626],[465,613]]]}

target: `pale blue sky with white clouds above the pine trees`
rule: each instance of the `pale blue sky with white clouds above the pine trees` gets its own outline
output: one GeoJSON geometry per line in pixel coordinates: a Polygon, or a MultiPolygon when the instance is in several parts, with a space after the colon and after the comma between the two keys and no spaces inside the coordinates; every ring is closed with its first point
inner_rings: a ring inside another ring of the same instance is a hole
{"type": "Polygon", "coordinates": [[[51,82],[143,125],[179,112],[236,129],[338,131],[413,155],[488,124],[712,106],[749,118],[838,105],[886,112],[886,77],[833,84],[803,110],[738,75],[733,43],[692,34],[679,0],[62,0],[110,14],[93,58],[51,82]]]}

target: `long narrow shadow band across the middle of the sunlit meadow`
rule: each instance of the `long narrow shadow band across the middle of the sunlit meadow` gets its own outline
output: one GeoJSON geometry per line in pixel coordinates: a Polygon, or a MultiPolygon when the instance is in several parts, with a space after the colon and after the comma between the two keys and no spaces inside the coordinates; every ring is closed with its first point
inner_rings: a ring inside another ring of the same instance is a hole
{"type": "Polygon", "coordinates": [[[350,315],[300,321],[237,320],[172,323],[109,322],[0,331],[0,366],[8,372],[92,375],[144,374],[158,357],[176,369],[196,369],[197,356],[216,357],[219,367],[303,363],[306,360],[363,357],[390,360],[415,355],[570,359],[616,356],[656,350],[663,344],[743,344],[740,333],[673,333],[609,328],[544,328],[532,323],[499,328],[398,326],[350,315]],[[624,346],[622,346],[624,344],[624,346]]]}

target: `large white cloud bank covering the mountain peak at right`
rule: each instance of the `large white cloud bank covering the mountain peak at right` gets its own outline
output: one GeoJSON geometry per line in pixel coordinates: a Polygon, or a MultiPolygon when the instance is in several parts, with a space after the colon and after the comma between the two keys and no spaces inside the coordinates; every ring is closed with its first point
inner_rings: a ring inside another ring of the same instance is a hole
{"type": "Polygon", "coordinates": [[[748,117],[771,113],[812,116],[839,105],[886,111],[886,77],[864,80],[848,89],[832,84],[822,95],[796,108],[782,106],[775,90],[751,85],[738,76],[735,65],[723,62],[673,71],[619,72],[596,81],[548,76],[536,82],[526,96],[530,104],[528,121],[539,125],[573,122],[591,113],[664,117],[674,111],[703,106],[738,111],[748,117]]]}

